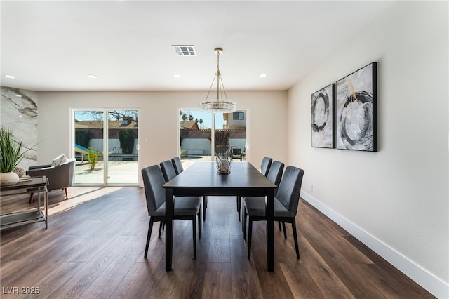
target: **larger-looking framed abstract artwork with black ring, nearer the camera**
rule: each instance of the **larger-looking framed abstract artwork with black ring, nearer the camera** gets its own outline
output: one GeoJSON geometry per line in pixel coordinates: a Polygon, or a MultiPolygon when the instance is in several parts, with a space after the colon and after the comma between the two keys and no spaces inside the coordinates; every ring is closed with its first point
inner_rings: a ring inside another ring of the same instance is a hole
{"type": "Polygon", "coordinates": [[[377,62],[337,81],[337,149],[377,152],[377,62]]]}

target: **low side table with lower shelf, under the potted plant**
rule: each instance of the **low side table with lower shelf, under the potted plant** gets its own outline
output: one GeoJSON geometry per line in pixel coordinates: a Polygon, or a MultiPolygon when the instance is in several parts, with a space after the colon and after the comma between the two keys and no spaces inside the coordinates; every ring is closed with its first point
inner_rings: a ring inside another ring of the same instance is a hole
{"type": "Polygon", "coordinates": [[[15,185],[1,185],[0,197],[6,197],[17,194],[26,194],[28,190],[38,193],[39,199],[35,211],[8,213],[0,216],[0,227],[3,230],[6,227],[14,227],[18,225],[25,225],[34,222],[45,221],[45,228],[48,227],[48,198],[47,198],[48,181],[45,176],[32,178],[26,182],[18,182],[15,185]],[[7,194],[4,194],[4,192],[7,194]],[[11,192],[10,192],[11,191],[11,192]],[[43,211],[41,208],[41,193],[43,193],[43,211]]]}

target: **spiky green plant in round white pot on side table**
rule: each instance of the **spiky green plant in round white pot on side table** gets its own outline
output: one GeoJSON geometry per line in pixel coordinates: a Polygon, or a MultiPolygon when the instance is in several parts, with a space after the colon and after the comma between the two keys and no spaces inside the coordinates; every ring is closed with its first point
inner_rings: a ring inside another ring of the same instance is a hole
{"type": "Polygon", "coordinates": [[[13,131],[9,127],[0,127],[0,184],[14,185],[19,181],[19,176],[13,172],[15,166],[25,157],[29,151],[22,151],[22,141],[13,138],[13,131]]]}

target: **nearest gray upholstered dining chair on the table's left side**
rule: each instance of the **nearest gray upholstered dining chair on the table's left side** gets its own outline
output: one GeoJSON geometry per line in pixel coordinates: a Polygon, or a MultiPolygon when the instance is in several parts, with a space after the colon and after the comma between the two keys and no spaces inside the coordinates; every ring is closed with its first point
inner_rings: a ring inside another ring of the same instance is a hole
{"type": "MultiPolygon", "coordinates": [[[[162,227],[163,222],[166,220],[166,190],[162,187],[166,181],[163,178],[159,165],[142,168],[142,178],[149,215],[147,244],[144,255],[147,258],[153,223],[161,222],[162,227]]],[[[194,258],[196,258],[196,218],[198,218],[198,239],[201,239],[201,198],[182,197],[182,199],[176,200],[175,197],[173,219],[192,220],[194,258]]],[[[159,237],[161,237],[161,227],[159,227],[159,237]]]]}

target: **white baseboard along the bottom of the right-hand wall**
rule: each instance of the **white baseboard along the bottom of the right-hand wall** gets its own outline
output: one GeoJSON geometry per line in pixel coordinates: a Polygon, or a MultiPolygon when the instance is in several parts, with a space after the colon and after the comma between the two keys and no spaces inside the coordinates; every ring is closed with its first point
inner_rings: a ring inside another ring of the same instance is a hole
{"type": "Polygon", "coordinates": [[[349,234],[353,235],[363,244],[375,251],[375,253],[382,256],[382,258],[391,263],[391,265],[394,265],[394,267],[410,277],[410,279],[413,279],[413,281],[425,288],[436,298],[449,298],[449,284],[446,284],[441,279],[438,279],[438,277],[435,277],[427,270],[415,264],[413,260],[401,255],[401,253],[398,253],[387,244],[384,244],[381,240],[373,237],[361,227],[358,227],[355,223],[333,211],[333,209],[326,206],[326,204],[323,204],[318,199],[315,199],[310,194],[307,194],[307,192],[302,191],[301,197],[321,211],[321,213],[328,216],[328,218],[337,223],[337,225],[340,225],[344,228],[344,230],[347,230],[349,234]]]}

